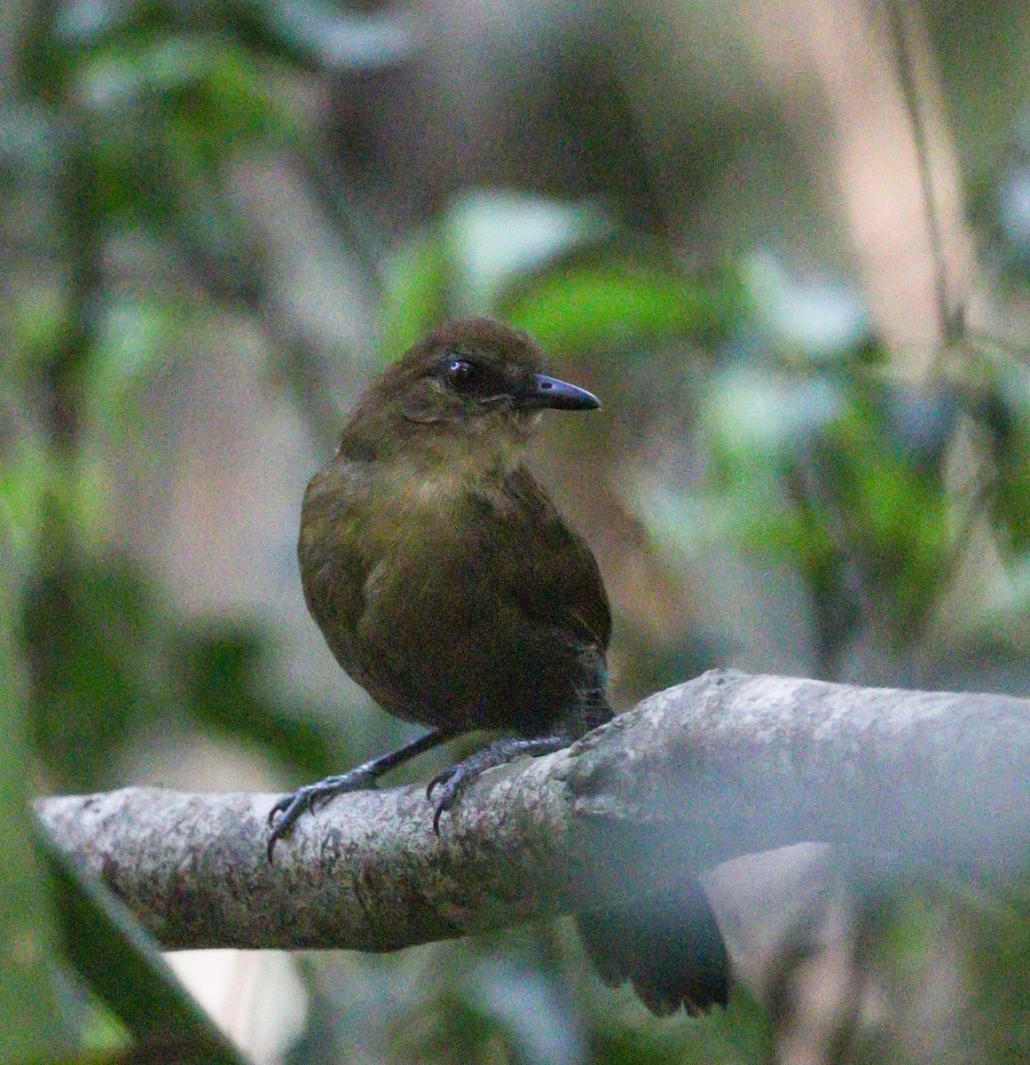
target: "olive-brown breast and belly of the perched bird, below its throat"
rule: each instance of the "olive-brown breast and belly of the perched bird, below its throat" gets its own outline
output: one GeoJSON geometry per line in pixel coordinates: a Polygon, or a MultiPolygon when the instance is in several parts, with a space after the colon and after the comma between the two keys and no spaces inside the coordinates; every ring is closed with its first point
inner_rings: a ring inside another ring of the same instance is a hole
{"type": "Polygon", "coordinates": [[[554,574],[518,531],[520,499],[502,477],[474,481],[461,469],[313,482],[301,532],[309,606],[384,709],[531,735],[600,689],[603,654],[566,630],[554,574]]]}

